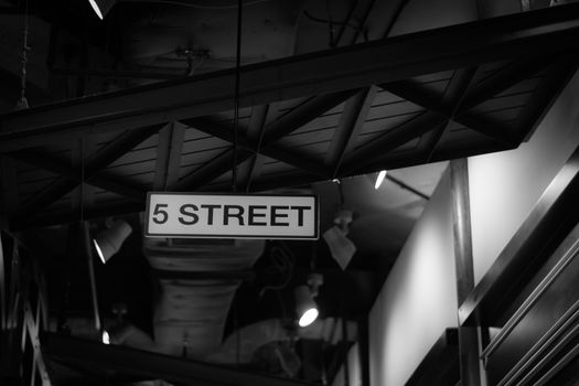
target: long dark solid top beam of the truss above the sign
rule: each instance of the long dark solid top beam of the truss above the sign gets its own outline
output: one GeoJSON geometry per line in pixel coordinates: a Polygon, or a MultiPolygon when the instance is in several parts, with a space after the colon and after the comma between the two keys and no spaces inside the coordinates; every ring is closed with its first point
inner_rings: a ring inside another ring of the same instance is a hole
{"type": "MultiPolygon", "coordinates": [[[[248,65],[240,107],[572,50],[578,32],[579,4],[571,3],[248,65]]],[[[232,109],[234,81],[232,68],[7,114],[0,116],[0,151],[232,109]]]]}

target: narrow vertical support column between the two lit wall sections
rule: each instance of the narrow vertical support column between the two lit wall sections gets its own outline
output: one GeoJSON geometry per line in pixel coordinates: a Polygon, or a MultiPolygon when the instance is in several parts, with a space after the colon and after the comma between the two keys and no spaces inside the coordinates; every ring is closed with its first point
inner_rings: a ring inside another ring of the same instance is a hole
{"type": "MultiPolygon", "coordinates": [[[[460,307],[474,288],[472,262],[469,167],[467,159],[450,161],[457,300],[460,307]]],[[[457,310],[458,318],[458,310],[457,310]]],[[[462,386],[483,386],[479,360],[478,326],[459,325],[460,377],[462,386]]]]}

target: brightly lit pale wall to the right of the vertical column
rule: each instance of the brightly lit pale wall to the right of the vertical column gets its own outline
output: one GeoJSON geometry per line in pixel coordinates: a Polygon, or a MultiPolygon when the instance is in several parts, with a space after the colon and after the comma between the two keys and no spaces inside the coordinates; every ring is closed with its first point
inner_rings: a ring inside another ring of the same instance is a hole
{"type": "Polygon", "coordinates": [[[469,159],[475,281],[498,257],[579,143],[579,76],[526,143],[469,159]]]}

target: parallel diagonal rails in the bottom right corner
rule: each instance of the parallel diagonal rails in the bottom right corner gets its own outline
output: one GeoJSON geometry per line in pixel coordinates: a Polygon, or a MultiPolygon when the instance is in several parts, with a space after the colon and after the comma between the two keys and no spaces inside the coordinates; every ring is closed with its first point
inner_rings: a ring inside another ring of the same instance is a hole
{"type": "MultiPolygon", "coordinates": [[[[505,374],[493,374],[492,385],[545,385],[579,356],[579,290],[573,289],[579,275],[578,256],[579,225],[551,255],[553,267],[537,274],[542,278],[538,285],[482,352],[483,363],[496,364],[521,345],[522,339],[528,346],[505,374]],[[553,299],[558,304],[554,305],[553,299]],[[545,314],[546,310],[553,313],[545,314]]],[[[521,354],[521,350],[514,352],[521,354]]]]}

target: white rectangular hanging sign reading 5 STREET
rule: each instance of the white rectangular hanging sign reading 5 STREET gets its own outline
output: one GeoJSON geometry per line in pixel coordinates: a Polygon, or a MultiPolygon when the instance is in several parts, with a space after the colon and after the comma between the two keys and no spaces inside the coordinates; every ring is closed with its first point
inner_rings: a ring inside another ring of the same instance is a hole
{"type": "Polygon", "coordinates": [[[150,192],[144,236],[318,239],[318,197],[150,192]]]}

